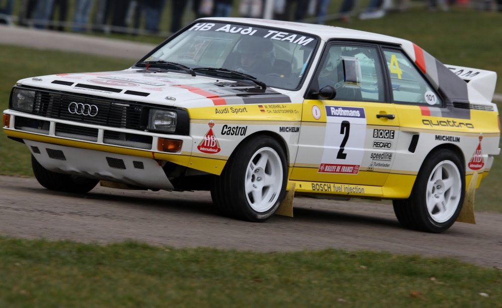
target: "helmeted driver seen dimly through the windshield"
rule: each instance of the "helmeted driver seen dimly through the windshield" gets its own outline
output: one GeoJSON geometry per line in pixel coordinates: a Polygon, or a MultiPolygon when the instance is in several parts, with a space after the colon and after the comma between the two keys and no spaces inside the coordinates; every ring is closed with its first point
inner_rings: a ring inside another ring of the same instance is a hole
{"type": "Polygon", "coordinates": [[[269,74],[275,60],[274,44],[270,39],[247,36],[234,48],[239,56],[234,70],[246,74],[269,74]]]}

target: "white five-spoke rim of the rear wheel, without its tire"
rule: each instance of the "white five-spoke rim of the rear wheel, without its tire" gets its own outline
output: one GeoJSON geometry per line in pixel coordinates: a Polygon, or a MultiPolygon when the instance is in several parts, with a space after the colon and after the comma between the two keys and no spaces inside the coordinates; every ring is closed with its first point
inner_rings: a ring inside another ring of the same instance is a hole
{"type": "Polygon", "coordinates": [[[462,194],[462,180],[457,166],[441,161],[431,172],[426,189],[427,210],[437,223],[448,221],[457,211],[462,194]]]}

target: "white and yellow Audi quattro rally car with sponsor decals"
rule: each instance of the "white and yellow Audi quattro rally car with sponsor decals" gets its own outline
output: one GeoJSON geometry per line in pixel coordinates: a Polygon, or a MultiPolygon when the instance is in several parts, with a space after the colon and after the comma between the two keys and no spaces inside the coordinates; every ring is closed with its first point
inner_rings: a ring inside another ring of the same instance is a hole
{"type": "Polygon", "coordinates": [[[495,82],[399,38],[208,18],[122,71],[18,81],[3,129],[50,190],[207,190],[254,222],[294,195],[391,199],[442,232],[500,151],[495,82]]]}

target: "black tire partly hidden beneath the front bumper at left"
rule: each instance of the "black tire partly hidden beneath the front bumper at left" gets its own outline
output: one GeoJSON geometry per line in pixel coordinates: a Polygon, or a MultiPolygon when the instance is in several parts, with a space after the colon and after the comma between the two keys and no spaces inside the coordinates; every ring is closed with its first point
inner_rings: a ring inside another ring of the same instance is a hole
{"type": "Polygon", "coordinates": [[[55,173],[45,169],[32,155],[35,178],[43,187],[58,192],[84,194],[92,190],[99,180],[55,173]]]}

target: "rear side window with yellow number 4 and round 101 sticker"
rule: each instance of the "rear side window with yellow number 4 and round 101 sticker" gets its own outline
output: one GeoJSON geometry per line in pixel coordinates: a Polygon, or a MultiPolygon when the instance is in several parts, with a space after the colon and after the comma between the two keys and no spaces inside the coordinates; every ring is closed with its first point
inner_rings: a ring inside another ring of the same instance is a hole
{"type": "Polygon", "coordinates": [[[384,49],[384,55],[391,75],[394,101],[441,105],[439,96],[401,51],[384,49]]]}

